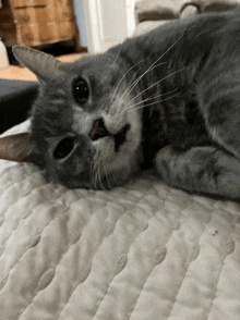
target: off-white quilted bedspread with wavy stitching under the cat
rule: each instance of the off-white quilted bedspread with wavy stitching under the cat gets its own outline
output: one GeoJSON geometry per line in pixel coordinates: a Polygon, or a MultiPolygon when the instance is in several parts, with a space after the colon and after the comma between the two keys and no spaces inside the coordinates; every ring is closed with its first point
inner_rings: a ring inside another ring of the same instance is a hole
{"type": "Polygon", "coordinates": [[[239,320],[240,205],[151,174],[70,190],[0,160],[0,319],[239,320]]]}

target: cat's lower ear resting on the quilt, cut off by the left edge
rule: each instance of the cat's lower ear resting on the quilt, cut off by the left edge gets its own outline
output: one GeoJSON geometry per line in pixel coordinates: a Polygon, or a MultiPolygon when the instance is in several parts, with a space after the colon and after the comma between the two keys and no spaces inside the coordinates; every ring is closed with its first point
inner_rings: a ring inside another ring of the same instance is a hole
{"type": "Polygon", "coordinates": [[[0,159],[16,162],[41,163],[41,157],[28,140],[28,133],[0,138],[0,159]]]}

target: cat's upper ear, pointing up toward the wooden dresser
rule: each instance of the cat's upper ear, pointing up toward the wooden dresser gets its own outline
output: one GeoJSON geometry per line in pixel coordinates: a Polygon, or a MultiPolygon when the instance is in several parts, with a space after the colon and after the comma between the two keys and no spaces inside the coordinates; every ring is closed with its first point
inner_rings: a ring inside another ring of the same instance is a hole
{"type": "Polygon", "coordinates": [[[39,82],[61,76],[68,64],[29,47],[14,46],[12,51],[16,60],[29,69],[39,82]]]}

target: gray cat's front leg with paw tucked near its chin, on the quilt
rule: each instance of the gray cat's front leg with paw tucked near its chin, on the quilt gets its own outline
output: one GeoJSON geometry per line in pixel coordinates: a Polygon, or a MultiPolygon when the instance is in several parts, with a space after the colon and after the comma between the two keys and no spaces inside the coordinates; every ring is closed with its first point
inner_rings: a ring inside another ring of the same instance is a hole
{"type": "Polygon", "coordinates": [[[155,163],[163,180],[173,187],[240,198],[240,161],[215,147],[183,150],[167,146],[157,153],[155,163]]]}

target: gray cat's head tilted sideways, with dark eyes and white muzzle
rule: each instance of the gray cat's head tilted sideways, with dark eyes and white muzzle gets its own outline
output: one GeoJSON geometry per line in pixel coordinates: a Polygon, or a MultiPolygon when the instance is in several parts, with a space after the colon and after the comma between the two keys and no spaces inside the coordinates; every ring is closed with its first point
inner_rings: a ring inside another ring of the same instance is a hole
{"type": "Polygon", "coordinates": [[[13,53],[40,84],[29,137],[49,179],[70,188],[122,185],[141,159],[134,74],[110,53],[72,63],[27,47],[13,53]]]}

